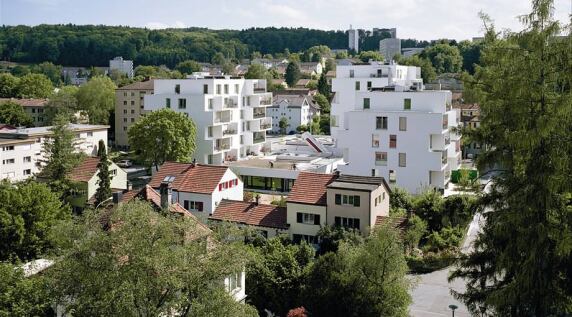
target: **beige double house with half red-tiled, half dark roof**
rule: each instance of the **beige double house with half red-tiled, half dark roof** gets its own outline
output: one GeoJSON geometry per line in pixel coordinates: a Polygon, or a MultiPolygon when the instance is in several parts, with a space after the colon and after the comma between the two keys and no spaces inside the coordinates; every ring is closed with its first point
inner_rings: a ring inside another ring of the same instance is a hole
{"type": "Polygon", "coordinates": [[[389,216],[390,189],[383,177],[301,172],[287,200],[290,236],[317,244],[322,226],[371,232],[378,218],[389,216]]]}

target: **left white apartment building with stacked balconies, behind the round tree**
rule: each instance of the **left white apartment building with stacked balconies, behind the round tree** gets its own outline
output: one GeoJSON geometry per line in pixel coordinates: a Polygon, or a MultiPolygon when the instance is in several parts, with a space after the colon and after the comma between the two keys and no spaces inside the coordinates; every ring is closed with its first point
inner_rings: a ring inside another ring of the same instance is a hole
{"type": "Polygon", "coordinates": [[[266,131],[272,128],[266,117],[266,107],[272,105],[266,80],[198,74],[158,79],[144,104],[145,110],[170,108],[195,122],[193,156],[198,163],[219,165],[266,150],[266,131]]]}

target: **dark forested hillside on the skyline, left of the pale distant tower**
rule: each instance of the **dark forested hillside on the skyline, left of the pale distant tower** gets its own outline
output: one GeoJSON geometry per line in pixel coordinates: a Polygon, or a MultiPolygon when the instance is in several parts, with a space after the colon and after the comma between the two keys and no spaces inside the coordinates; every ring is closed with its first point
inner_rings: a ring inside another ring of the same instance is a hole
{"type": "Polygon", "coordinates": [[[250,53],[300,51],[315,45],[344,48],[342,31],[304,28],[251,28],[242,31],[200,28],[149,30],[115,26],[39,25],[0,27],[2,60],[25,63],[44,61],[59,65],[106,66],[123,56],[141,65],[174,67],[185,60],[210,62],[217,52],[228,59],[250,53]]]}

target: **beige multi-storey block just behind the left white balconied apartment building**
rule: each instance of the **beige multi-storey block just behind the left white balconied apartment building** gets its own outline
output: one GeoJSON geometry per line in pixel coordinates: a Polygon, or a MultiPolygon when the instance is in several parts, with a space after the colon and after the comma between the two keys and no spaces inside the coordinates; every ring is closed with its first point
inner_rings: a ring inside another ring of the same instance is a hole
{"type": "Polygon", "coordinates": [[[127,131],[145,113],[143,96],[151,94],[153,94],[152,79],[115,90],[115,146],[129,148],[127,131]]]}

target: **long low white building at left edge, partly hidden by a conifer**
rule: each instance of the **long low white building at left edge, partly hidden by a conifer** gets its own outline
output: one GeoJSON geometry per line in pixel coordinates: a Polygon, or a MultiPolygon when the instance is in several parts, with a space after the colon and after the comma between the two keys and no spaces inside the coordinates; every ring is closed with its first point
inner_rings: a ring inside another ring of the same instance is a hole
{"type": "MultiPolygon", "coordinates": [[[[78,152],[96,155],[99,140],[107,147],[109,126],[70,124],[69,128],[76,134],[78,152]]],[[[0,130],[0,180],[22,181],[39,173],[46,160],[43,143],[50,134],[50,127],[0,130]]]]}

